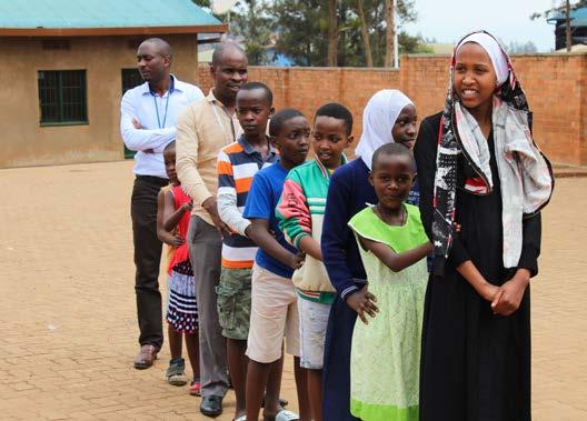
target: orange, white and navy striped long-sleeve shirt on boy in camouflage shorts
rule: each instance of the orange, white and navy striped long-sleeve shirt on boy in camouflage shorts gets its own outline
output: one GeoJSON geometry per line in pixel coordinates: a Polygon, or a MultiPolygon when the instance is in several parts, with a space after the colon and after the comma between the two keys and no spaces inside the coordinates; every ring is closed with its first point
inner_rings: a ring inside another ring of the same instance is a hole
{"type": "Polygon", "coordinates": [[[257,247],[245,235],[250,224],[242,218],[252,178],[262,168],[278,160],[270,148],[266,159],[243,137],[222,148],[218,153],[218,213],[233,232],[222,240],[222,267],[229,269],[252,268],[257,247]]]}

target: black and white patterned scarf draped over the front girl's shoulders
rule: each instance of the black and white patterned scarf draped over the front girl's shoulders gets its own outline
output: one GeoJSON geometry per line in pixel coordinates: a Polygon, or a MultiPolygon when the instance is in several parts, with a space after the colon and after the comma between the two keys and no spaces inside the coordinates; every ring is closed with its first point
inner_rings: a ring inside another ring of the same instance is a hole
{"type": "MultiPolygon", "coordinates": [[[[479,32],[487,33],[476,31],[472,34],[479,32]]],[[[465,191],[471,194],[489,194],[493,191],[487,141],[472,116],[460,104],[452,86],[456,54],[469,36],[457,43],[452,53],[448,94],[438,133],[432,219],[437,275],[444,274],[454,241],[459,154],[464,154],[478,174],[466,180],[465,191]]],[[[503,46],[495,41],[499,46],[497,50],[507,59],[509,70],[507,80],[496,89],[494,96],[493,121],[504,202],[504,264],[511,268],[517,265],[521,252],[521,220],[536,214],[548,203],[554,180],[550,163],[531,138],[531,112],[526,96],[516,79],[509,57],[503,46]]]]}

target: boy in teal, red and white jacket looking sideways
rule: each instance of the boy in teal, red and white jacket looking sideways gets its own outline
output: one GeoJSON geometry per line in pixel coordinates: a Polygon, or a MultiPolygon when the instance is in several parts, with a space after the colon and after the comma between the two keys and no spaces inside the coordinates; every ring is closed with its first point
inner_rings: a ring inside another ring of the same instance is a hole
{"type": "Polygon", "coordinates": [[[322,263],[320,237],[330,174],[346,163],[352,142],[352,114],[339,103],[316,112],[312,148],[316,159],[294,168],[283,184],[276,213],[286,239],[306,253],[291,280],[298,292],[300,365],[307,369],[312,419],[322,419],[322,365],[326,328],[335,289],[322,263]]]}

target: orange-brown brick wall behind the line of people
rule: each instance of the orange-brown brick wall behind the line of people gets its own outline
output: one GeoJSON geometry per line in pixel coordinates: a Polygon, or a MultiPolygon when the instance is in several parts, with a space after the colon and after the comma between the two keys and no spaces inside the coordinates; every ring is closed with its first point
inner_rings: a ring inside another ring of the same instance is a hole
{"type": "MultiPolygon", "coordinates": [[[[399,70],[358,68],[251,67],[250,81],[267,83],[275,107],[294,107],[309,119],[326,102],[347,106],[355,117],[354,134],[361,131],[362,109],[385,88],[401,89],[421,118],[441,110],[448,86],[446,56],[404,56],[399,70]]],[[[551,161],[587,164],[587,56],[534,54],[513,58],[514,68],[534,112],[534,134],[551,161]]],[[[199,83],[211,87],[209,69],[199,68],[199,83]]]]}

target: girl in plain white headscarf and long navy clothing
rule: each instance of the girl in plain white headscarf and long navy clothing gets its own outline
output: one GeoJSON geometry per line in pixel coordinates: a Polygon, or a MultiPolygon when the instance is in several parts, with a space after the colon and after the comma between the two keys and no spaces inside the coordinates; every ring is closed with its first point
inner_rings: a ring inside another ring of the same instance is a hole
{"type": "MultiPolygon", "coordinates": [[[[362,136],[356,150],[360,158],[337,169],[328,188],[321,251],[328,277],[337,290],[326,333],[324,359],[325,421],[354,421],[350,413],[350,347],[357,311],[366,297],[365,268],[348,221],[367,203],[377,203],[369,183],[371,158],[384,143],[414,143],[416,109],[398,90],[377,92],[362,117],[362,136]]],[[[365,312],[375,315],[367,301],[365,312]]]]}

